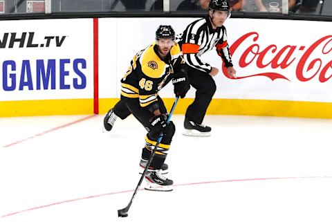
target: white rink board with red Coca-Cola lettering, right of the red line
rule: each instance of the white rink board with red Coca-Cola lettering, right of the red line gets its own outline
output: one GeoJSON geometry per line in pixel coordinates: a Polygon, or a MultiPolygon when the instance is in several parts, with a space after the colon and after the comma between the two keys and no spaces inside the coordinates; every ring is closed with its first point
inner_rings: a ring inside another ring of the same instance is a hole
{"type": "MultiPolygon", "coordinates": [[[[132,55],[154,41],[160,24],[171,25],[178,34],[196,19],[144,18],[135,20],[136,26],[128,18],[100,19],[100,96],[118,96],[132,55]],[[124,30],[124,26],[131,28],[124,30]],[[116,53],[109,53],[115,51],[114,42],[116,53]]],[[[332,102],[331,22],[231,17],[224,26],[237,78],[225,73],[216,50],[204,53],[202,62],[219,68],[213,77],[214,99],[332,102]]],[[[172,98],[172,84],[160,95],[172,98]]],[[[190,89],[186,98],[194,97],[195,90],[190,89]]]]}

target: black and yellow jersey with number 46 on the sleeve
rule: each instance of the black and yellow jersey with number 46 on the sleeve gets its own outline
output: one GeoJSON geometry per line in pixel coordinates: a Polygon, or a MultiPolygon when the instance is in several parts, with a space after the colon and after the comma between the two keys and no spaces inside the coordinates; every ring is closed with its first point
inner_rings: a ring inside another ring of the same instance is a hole
{"type": "Polygon", "coordinates": [[[174,76],[185,72],[185,61],[177,43],[171,48],[167,58],[158,55],[156,42],[140,50],[131,60],[129,69],[121,80],[121,95],[138,98],[141,107],[148,109],[157,102],[158,91],[174,76]]]}

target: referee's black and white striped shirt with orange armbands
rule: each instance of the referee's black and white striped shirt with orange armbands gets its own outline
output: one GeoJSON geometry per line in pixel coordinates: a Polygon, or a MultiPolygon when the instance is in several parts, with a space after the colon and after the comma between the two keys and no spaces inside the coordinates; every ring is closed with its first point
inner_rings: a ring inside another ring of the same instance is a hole
{"type": "Polygon", "coordinates": [[[210,73],[212,67],[201,60],[201,55],[214,46],[225,66],[233,66],[225,26],[214,30],[208,16],[189,24],[182,34],[176,36],[176,41],[181,46],[185,63],[192,68],[210,73]]]}

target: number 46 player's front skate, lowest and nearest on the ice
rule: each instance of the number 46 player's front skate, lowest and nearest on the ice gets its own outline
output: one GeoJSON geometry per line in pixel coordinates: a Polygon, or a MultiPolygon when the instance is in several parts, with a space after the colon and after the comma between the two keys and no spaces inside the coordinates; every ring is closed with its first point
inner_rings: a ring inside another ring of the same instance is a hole
{"type": "Polygon", "coordinates": [[[145,175],[145,181],[147,185],[145,189],[153,191],[172,191],[173,181],[169,180],[166,176],[161,174],[161,170],[156,170],[154,172],[147,172],[145,175]]]}

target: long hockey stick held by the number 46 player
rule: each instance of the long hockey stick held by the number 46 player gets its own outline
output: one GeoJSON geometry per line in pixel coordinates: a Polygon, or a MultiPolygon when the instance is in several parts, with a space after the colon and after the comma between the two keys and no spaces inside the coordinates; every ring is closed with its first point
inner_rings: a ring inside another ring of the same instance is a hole
{"type": "MultiPolygon", "coordinates": [[[[178,97],[175,98],[174,104],[172,106],[171,112],[169,113],[167,122],[171,120],[171,117],[173,115],[174,109],[176,107],[176,104],[178,103],[178,97]]],[[[145,166],[144,172],[142,173],[142,176],[140,176],[140,181],[138,181],[138,185],[136,186],[135,191],[133,192],[133,196],[131,196],[131,200],[129,201],[127,207],[124,207],[123,209],[118,210],[118,216],[119,217],[126,217],[128,216],[128,211],[131,206],[131,203],[133,203],[133,198],[135,198],[138,189],[140,188],[140,185],[142,184],[143,179],[145,178],[145,174],[147,174],[147,169],[149,169],[149,166],[151,165],[152,159],[154,158],[154,154],[156,154],[157,147],[160,143],[160,141],[163,139],[163,132],[160,133],[160,136],[156,142],[156,145],[154,146],[154,149],[149,157],[149,161],[147,161],[147,165],[145,166]]]]}

